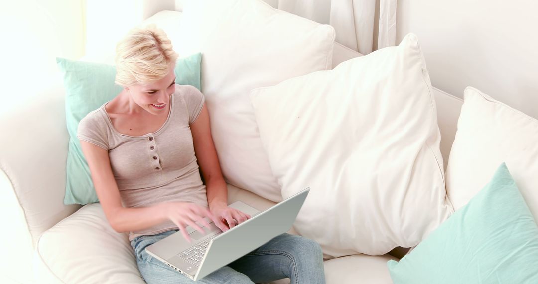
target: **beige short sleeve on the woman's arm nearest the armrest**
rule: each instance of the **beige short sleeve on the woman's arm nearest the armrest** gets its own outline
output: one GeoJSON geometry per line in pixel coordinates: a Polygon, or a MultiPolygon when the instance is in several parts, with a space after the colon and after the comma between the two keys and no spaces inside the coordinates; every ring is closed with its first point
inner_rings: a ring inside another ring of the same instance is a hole
{"type": "Polygon", "coordinates": [[[107,124],[100,115],[100,109],[97,109],[91,111],[80,120],[76,137],[108,151],[109,143],[106,127],[107,124]]]}

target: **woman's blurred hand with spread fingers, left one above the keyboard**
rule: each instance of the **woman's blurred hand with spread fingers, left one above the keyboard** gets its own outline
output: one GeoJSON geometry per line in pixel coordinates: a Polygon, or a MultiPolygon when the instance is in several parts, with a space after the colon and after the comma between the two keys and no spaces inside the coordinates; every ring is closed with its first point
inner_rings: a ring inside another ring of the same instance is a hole
{"type": "Polygon", "coordinates": [[[190,243],[191,239],[187,230],[185,229],[187,225],[193,227],[197,231],[206,235],[206,232],[195,222],[200,222],[207,228],[209,228],[209,223],[204,219],[208,217],[211,221],[215,223],[219,228],[224,225],[224,223],[215,216],[206,208],[200,205],[190,203],[190,202],[166,202],[162,203],[164,206],[165,215],[170,219],[176,226],[178,226],[183,237],[190,243]],[[223,223],[223,224],[220,224],[223,223]]]}

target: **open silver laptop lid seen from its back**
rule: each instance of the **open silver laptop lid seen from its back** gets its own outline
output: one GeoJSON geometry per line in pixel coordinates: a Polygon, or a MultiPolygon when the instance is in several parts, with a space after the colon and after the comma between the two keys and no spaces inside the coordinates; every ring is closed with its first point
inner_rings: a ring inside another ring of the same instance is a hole
{"type": "Polygon", "coordinates": [[[203,278],[291,229],[309,191],[310,188],[306,188],[212,239],[194,280],[203,278]]]}

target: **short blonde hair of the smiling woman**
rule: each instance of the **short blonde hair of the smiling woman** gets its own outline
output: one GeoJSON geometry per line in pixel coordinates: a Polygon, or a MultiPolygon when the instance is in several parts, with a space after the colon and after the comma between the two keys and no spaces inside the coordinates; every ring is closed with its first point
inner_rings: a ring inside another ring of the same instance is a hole
{"type": "Polygon", "coordinates": [[[133,29],[116,45],[115,83],[128,87],[164,78],[178,54],[166,33],[155,25],[133,29]]]}

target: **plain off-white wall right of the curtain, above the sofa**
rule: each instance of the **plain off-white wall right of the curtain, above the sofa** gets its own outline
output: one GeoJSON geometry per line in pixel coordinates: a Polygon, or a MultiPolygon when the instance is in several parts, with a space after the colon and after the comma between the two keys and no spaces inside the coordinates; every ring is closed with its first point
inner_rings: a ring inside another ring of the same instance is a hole
{"type": "Polygon", "coordinates": [[[396,42],[419,38],[431,82],[466,86],[538,118],[538,2],[398,0],[396,42]]]}

